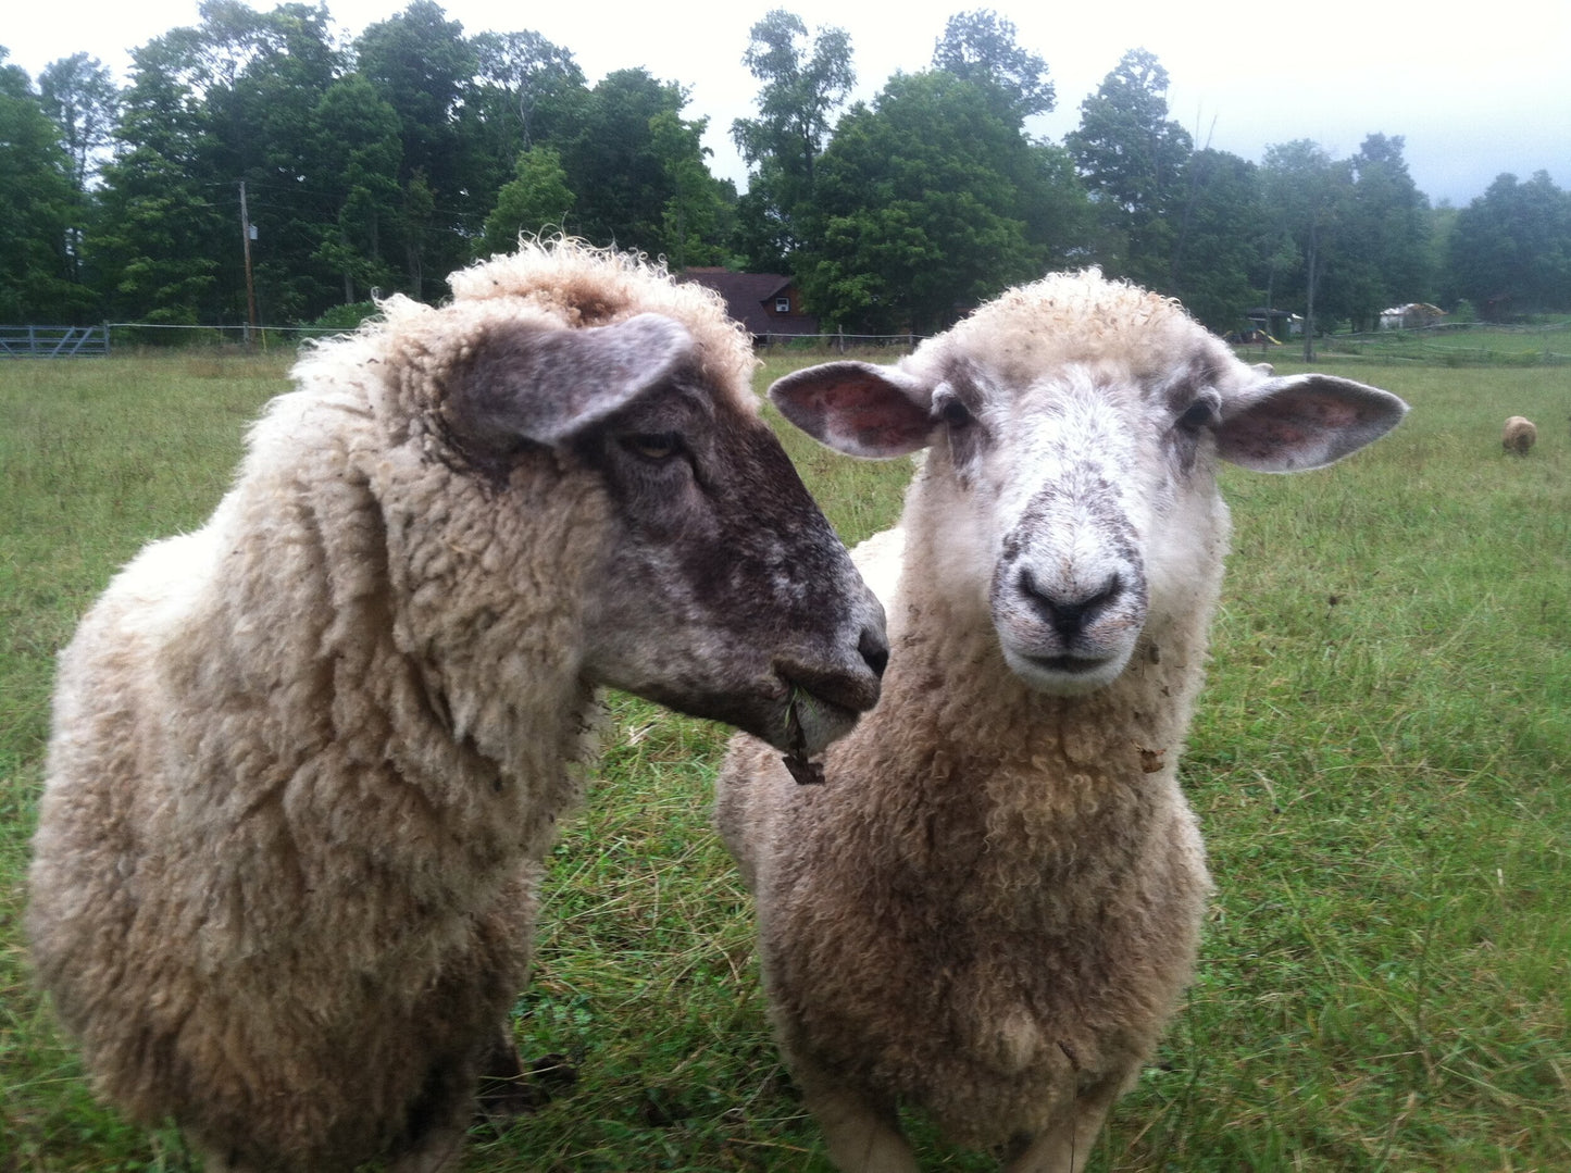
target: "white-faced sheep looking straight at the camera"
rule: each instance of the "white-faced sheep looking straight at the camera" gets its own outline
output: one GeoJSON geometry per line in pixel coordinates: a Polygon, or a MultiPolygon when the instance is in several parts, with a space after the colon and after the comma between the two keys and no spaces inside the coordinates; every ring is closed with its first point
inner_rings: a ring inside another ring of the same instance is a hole
{"type": "Polygon", "coordinates": [[[770,394],[844,452],[930,444],[899,526],[853,550],[897,579],[878,707],[822,787],[748,736],[716,785],[784,1057],[842,1170],[917,1167],[902,1105],[1016,1173],[1079,1170],[1210,892],[1177,769],[1229,539],[1218,459],[1318,468],[1406,404],[1268,377],[1095,270],[770,394]]]}

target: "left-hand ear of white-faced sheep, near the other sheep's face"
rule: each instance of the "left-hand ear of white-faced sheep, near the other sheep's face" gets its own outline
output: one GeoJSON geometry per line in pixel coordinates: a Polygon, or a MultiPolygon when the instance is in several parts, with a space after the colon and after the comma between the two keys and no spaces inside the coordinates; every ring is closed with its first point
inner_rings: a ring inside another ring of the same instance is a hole
{"type": "Polygon", "coordinates": [[[933,391],[899,367],[823,363],[786,375],[770,399],[820,444],[886,460],[927,448],[933,391]]]}

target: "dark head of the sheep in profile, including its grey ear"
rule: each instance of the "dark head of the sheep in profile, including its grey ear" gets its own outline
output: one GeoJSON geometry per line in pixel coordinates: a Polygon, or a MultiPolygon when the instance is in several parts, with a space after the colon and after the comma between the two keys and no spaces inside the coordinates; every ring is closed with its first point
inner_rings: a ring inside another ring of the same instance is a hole
{"type": "Polygon", "coordinates": [[[572,594],[580,678],[793,755],[822,751],[877,702],[883,609],[764,422],[748,372],[716,378],[701,331],[657,312],[570,328],[501,300],[454,322],[462,342],[432,325],[427,361],[407,377],[432,400],[424,444],[500,513],[559,504],[564,518],[517,523],[569,531],[555,546],[492,539],[490,557],[520,592],[572,594]],[[544,498],[522,496],[542,477],[544,498]]]}

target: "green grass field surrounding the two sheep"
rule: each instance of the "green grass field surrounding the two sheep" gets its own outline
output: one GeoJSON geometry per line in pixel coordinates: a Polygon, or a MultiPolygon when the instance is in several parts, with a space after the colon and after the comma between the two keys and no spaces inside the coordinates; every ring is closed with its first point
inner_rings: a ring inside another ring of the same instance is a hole
{"type": "MultiPolygon", "coordinates": [[[[1218,890],[1093,1170],[1571,1168],[1571,367],[1342,361],[1316,366],[1414,411],[1334,470],[1224,477],[1235,553],[1183,766],[1218,890]],[[1525,460],[1508,415],[1540,426],[1525,460]]],[[[55,650],[143,542],[207,515],[284,371],[0,364],[0,1173],[196,1167],[93,1101],[31,989],[27,843],[55,650]]],[[[895,517],[905,462],[784,440],[848,542],[895,517]]],[[[823,1173],[709,829],[724,730],[611,710],[517,1003],[551,1101],[476,1129],[463,1167],[823,1173]]],[[[993,1167],[917,1132],[932,1168],[993,1167]]]]}

